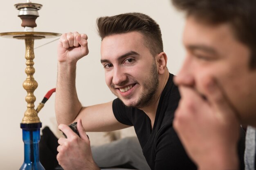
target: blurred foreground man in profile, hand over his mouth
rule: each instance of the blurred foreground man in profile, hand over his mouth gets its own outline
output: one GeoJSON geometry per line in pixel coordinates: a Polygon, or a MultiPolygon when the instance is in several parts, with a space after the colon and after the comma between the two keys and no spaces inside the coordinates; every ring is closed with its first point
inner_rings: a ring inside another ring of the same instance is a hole
{"type": "Polygon", "coordinates": [[[255,169],[256,1],[172,1],[186,12],[175,130],[199,169],[237,170],[238,129],[250,125],[245,167],[255,169]]]}

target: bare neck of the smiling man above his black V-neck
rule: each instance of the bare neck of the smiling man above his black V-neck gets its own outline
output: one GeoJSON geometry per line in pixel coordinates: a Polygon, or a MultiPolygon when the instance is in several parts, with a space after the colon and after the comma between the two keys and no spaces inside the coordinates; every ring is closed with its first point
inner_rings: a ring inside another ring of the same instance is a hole
{"type": "Polygon", "coordinates": [[[159,103],[161,94],[164,90],[164,87],[168,81],[168,78],[169,78],[168,70],[163,75],[159,75],[159,86],[158,86],[157,92],[154,96],[154,99],[148,106],[139,108],[139,109],[143,110],[146,113],[146,115],[150,118],[152,129],[153,129],[153,125],[155,122],[155,115],[157,112],[158,103],[159,103]]]}

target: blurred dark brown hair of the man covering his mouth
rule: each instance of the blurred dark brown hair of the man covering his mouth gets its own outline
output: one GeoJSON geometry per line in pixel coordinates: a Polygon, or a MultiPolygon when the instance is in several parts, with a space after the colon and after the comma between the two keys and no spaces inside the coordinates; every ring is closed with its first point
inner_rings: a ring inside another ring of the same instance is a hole
{"type": "Polygon", "coordinates": [[[251,50],[250,67],[256,68],[256,0],[172,0],[187,16],[207,24],[228,23],[235,37],[251,50]]]}

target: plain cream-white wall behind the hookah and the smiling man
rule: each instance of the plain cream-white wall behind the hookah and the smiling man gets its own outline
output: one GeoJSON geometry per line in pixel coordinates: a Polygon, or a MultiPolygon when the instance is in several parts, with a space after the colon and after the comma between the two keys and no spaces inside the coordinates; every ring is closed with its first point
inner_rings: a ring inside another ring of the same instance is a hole
{"type": "MultiPolygon", "coordinates": [[[[0,32],[23,31],[18,10],[13,6],[26,0],[1,1],[0,32]]],[[[96,19],[105,15],[126,12],[148,14],[158,22],[162,29],[164,51],[168,56],[168,69],[176,74],[184,56],[182,48],[182,28],[184,19],[171,6],[170,0],[35,0],[43,4],[36,20],[34,31],[65,33],[78,31],[89,37],[90,53],[79,61],[77,66],[77,91],[83,105],[108,102],[115,98],[108,90],[104,80],[104,70],[100,63],[101,40],[97,35],[96,19]]],[[[35,47],[53,39],[36,40],[35,47]]],[[[35,49],[34,74],[38,88],[34,92],[37,100],[55,87],[57,62],[57,41],[35,49]]],[[[25,43],[23,40],[0,37],[0,169],[20,168],[23,156],[22,130],[20,122],[26,110],[25,89],[25,43]]],[[[54,115],[54,97],[50,98],[40,111],[39,118],[43,126],[56,131],[54,115]]]]}

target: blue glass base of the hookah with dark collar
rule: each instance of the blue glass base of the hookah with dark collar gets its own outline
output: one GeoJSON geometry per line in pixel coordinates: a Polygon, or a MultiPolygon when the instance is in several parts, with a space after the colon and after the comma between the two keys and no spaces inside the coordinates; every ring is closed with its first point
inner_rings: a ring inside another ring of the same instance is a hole
{"type": "Polygon", "coordinates": [[[42,123],[21,123],[24,142],[24,162],[20,170],[45,170],[39,161],[40,128],[42,123]]]}

